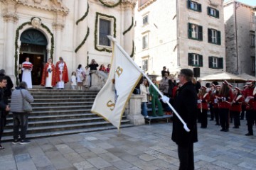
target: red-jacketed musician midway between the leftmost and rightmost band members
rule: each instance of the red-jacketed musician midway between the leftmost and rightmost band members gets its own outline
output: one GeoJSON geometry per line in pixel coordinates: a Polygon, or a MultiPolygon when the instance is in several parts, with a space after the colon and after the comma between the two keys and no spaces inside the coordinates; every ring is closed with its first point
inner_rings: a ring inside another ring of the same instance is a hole
{"type": "Polygon", "coordinates": [[[220,96],[218,98],[221,125],[220,131],[223,132],[229,131],[229,109],[231,101],[233,101],[233,91],[228,84],[228,81],[223,81],[223,85],[220,89],[220,96]]]}

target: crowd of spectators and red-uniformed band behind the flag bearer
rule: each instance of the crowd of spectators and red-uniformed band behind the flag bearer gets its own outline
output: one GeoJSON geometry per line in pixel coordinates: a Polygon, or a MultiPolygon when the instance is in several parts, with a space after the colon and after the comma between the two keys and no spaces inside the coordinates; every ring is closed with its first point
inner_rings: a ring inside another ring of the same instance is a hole
{"type": "MultiPolygon", "coordinates": [[[[174,75],[170,75],[169,70],[163,67],[161,71],[162,79],[159,81],[159,86],[156,84],[156,79],[153,83],[161,91],[164,96],[170,98],[169,103],[174,103],[176,91],[181,87],[179,79],[176,81],[174,75]]],[[[197,93],[197,122],[201,124],[201,128],[208,127],[208,113],[210,113],[210,121],[215,120],[215,125],[220,125],[220,131],[228,132],[230,123],[233,123],[233,128],[240,127],[240,120],[243,120],[246,115],[247,136],[253,135],[252,126],[256,122],[256,87],[255,81],[247,81],[246,85],[240,89],[233,87],[228,81],[206,83],[201,86],[201,79],[196,78],[191,80],[197,93]],[[246,113],[246,114],[245,114],[246,113]]],[[[151,100],[152,116],[161,116],[163,111],[166,115],[172,114],[171,108],[162,102],[157,91],[147,83],[144,79],[140,84],[139,93],[135,89],[134,94],[142,94],[142,115],[148,118],[146,112],[146,102],[151,100]],[[145,90],[146,89],[146,90],[145,90]],[[147,98],[147,100],[145,99],[147,98]],[[155,105],[157,104],[158,113],[156,113],[155,105]]]]}

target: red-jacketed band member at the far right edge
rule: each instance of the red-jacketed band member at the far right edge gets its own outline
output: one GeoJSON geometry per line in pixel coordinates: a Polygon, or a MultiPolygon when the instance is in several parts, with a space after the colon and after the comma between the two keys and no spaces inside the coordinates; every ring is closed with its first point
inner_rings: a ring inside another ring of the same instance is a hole
{"type": "MultiPolygon", "coordinates": [[[[253,95],[253,91],[255,89],[254,81],[247,81],[248,86],[245,90],[245,103],[247,103],[246,106],[246,120],[247,120],[247,129],[248,132],[245,134],[246,136],[252,136],[253,130],[252,126],[255,122],[255,111],[253,108],[255,108],[255,97],[253,95]]],[[[256,110],[256,109],[255,109],[256,110]]]]}

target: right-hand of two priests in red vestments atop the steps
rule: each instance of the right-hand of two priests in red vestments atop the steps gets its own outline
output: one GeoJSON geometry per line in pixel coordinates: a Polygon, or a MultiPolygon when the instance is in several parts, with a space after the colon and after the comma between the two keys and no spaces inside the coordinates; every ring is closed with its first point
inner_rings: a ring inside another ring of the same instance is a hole
{"type": "Polygon", "coordinates": [[[60,61],[56,63],[56,89],[64,89],[64,84],[68,82],[68,67],[60,57],[60,61]]]}

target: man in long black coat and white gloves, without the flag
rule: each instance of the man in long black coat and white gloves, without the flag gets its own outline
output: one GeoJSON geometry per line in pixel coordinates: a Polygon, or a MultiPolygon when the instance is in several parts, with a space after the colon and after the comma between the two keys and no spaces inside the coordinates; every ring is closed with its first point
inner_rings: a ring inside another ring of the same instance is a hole
{"type": "Polygon", "coordinates": [[[174,98],[174,108],[190,129],[190,132],[186,132],[183,124],[174,114],[171,140],[178,145],[179,170],[195,169],[193,143],[198,142],[196,127],[197,95],[192,79],[193,71],[191,69],[181,69],[179,81],[182,86],[178,89],[174,98]]]}

